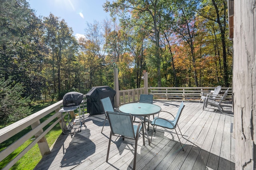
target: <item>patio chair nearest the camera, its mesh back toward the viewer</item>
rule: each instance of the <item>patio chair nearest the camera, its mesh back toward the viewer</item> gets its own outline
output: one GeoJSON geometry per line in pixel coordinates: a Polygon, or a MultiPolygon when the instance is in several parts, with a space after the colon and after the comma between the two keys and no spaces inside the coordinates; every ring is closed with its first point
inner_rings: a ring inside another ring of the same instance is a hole
{"type": "Polygon", "coordinates": [[[134,125],[134,121],[132,121],[132,115],[130,113],[109,112],[109,111],[107,111],[106,113],[107,113],[108,121],[111,128],[106,162],[108,162],[112,135],[120,136],[123,138],[123,140],[124,138],[133,139],[135,140],[134,160],[133,160],[133,169],[135,170],[137,144],[138,144],[140,130],[142,130],[143,145],[145,145],[143,122],[139,122],[139,123],[137,122],[138,125],[134,125]]]}

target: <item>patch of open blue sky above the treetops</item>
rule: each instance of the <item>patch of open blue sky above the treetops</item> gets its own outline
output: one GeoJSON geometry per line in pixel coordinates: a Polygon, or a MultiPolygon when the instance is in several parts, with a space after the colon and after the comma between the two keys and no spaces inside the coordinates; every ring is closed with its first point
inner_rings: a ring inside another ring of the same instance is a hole
{"type": "Polygon", "coordinates": [[[103,10],[102,5],[106,0],[27,0],[30,8],[34,9],[36,15],[54,16],[64,19],[69,27],[72,27],[74,36],[85,34],[84,29],[88,23],[94,20],[102,22],[109,18],[109,13],[103,10]]]}

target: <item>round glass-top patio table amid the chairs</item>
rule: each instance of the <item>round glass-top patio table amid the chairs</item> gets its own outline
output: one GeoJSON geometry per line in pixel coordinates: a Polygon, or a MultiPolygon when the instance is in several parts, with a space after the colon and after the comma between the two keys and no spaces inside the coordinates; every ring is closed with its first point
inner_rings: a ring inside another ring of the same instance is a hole
{"type": "MultiPolygon", "coordinates": [[[[161,111],[161,107],[150,103],[128,103],[120,106],[119,111],[124,113],[131,113],[132,116],[144,117],[144,129],[148,137],[148,132],[146,130],[146,117],[149,118],[150,115],[155,115],[159,113],[161,111]]],[[[148,144],[150,145],[149,137],[148,144]]]]}

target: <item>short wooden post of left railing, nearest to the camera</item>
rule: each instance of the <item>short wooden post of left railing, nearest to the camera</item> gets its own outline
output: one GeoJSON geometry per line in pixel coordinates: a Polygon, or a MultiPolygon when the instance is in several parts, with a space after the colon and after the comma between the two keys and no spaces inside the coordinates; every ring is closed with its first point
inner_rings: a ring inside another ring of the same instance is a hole
{"type": "MultiPolygon", "coordinates": [[[[36,121],[35,123],[33,123],[31,125],[32,129],[38,127],[40,125],[40,121],[36,121]]],[[[43,129],[39,130],[38,132],[36,132],[35,134],[35,138],[37,138],[38,136],[40,136],[40,134],[42,134],[44,132],[43,129]]],[[[38,147],[39,147],[39,150],[41,152],[41,155],[44,156],[45,154],[49,154],[50,153],[50,148],[49,148],[49,145],[46,141],[46,138],[45,136],[42,137],[38,142],[38,147]]]]}

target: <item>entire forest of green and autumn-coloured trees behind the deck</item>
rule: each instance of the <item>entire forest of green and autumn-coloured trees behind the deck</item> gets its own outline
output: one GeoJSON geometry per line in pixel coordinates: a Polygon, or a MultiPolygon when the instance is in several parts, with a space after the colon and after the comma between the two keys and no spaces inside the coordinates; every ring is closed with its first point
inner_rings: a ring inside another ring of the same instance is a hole
{"type": "Polygon", "coordinates": [[[38,17],[26,0],[0,0],[0,118],[14,112],[6,105],[14,91],[27,105],[86,94],[113,87],[114,67],[120,90],[141,87],[145,70],[152,87],[232,86],[226,0],[114,0],[102,8],[111,18],[87,23],[77,40],[64,19],[38,17]]]}

